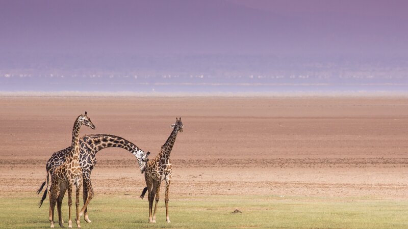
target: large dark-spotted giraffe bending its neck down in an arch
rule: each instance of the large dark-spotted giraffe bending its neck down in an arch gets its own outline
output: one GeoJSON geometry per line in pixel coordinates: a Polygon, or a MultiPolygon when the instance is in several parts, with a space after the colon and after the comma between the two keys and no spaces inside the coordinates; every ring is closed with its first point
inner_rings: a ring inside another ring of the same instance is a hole
{"type": "MultiPolygon", "coordinates": [[[[144,173],[146,161],[148,160],[147,156],[150,154],[150,152],[145,153],[135,144],[133,144],[132,142],[122,137],[118,137],[115,135],[109,135],[109,134],[85,135],[80,139],[80,147],[81,147],[80,165],[82,168],[82,177],[83,177],[84,204],[86,202],[86,199],[88,198],[88,195],[89,195],[89,201],[91,201],[94,195],[92,183],[91,183],[91,172],[92,172],[93,167],[96,164],[96,153],[98,151],[103,150],[105,148],[109,148],[109,147],[118,147],[118,148],[122,148],[122,149],[125,149],[131,152],[133,155],[135,155],[138,161],[141,173],[144,173]]],[[[60,166],[62,163],[65,162],[65,159],[70,153],[71,149],[72,149],[72,146],[69,146],[63,150],[57,151],[53,153],[53,155],[48,159],[46,166],[45,166],[46,178],[45,178],[45,181],[42,183],[41,187],[38,189],[37,194],[41,192],[45,183],[48,183],[48,177],[49,177],[48,175],[52,174],[53,171],[58,166],[60,166]]],[[[62,199],[64,198],[65,191],[66,189],[64,187],[60,187],[60,194],[58,195],[58,198],[57,198],[57,213],[58,214],[60,214],[61,212],[61,203],[62,203],[62,199]]],[[[47,196],[46,192],[47,190],[44,191],[44,194],[41,198],[41,201],[39,203],[40,207],[47,196]]],[[[84,219],[88,223],[91,222],[88,216],[88,207],[85,208],[84,219]]],[[[61,220],[61,221],[62,223],[64,223],[64,220],[61,220]]]]}

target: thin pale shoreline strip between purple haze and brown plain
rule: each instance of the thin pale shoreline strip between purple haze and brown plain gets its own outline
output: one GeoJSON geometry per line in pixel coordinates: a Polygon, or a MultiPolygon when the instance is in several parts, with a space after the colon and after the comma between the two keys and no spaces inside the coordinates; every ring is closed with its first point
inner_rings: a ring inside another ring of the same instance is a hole
{"type": "Polygon", "coordinates": [[[162,93],[162,92],[82,92],[82,91],[16,91],[7,92],[0,91],[0,97],[259,97],[259,98],[284,98],[284,97],[393,97],[393,98],[406,98],[408,92],[403,91],[334,91],[334,92],[248,92],[248,93],[162,93]]]}

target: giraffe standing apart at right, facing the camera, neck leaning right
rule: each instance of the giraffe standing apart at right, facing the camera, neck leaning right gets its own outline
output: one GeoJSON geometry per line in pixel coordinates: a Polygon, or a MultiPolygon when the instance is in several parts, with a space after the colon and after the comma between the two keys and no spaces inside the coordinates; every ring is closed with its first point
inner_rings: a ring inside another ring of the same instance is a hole
{"type": "Polygon", "coordinates": [[[166,221],[170,223],[169,214],[168,214],[168,202],[169,202],[169,188],[172,176],[172,166],[170,163],[170,152],[173,148],[177,132],[183,132],[183,123],[182,118],[179,120],[175,118],[175,124],[171,125],[173,131],[170,136],[167,138],[167,141],[162,146],[160,153],[152,160],[149,160],[146,164],[146,171],[144,173],[144,179],[146,181],[146,186],[143,189],[140,198],[143,199],[144,194],[148,191],[148,201],[149,201],[149,223],[156,222],[156,210],[157,203],[159,202],[159,192],[160,184],[162,181],[166,182],[166,193],[164,196],[164,203],[166,205],[166,221]],[[155,211],[153,216],[151,215],[153,208],[153,200],[156,197],[155,211]]]}

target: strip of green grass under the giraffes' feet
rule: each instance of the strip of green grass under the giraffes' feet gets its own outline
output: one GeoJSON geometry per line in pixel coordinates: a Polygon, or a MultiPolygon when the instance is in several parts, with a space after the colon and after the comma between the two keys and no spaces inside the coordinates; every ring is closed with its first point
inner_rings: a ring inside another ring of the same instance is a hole
{"type": "MultiPolygon", "coordinates": [[[[47,199],[39,209],[36,206],[39,198],[36,195],[2,196],[0,228],[48,228],[49,202],[47,199]]],[[[86,223],[82,218],[81,225],[83,228],[408,228],[408,200],[200,196],[170,198],[169,206],[170,224],[165,220],[162,199],[157,223],[149,224],[146,199],[135,195],[97,195],[89,208],[93,222],[86,223]],[[232,214],[237,208],[242,213],[232,214]]],[[[55,214],[58,220],[57,211],[55,214]]],[[[68,226],[67,197],[63,216],[68,226]]]]}

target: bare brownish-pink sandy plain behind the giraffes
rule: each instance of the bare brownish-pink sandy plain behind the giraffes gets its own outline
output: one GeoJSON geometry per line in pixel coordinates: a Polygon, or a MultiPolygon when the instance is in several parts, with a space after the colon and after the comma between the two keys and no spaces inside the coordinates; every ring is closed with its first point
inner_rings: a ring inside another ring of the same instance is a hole
{"type": "MultiPolygon", "coordinates": [[[[84,111],[156,155],[182,117],[170,195],[408,197],[406,98],[0,97],[0,196],[32,193],[84,111]]],[[[144,187],[134,156],[97,154],[98,195],[144,187]]],[[[39,196],[40,197],[40,196],[39,196]]]]}

